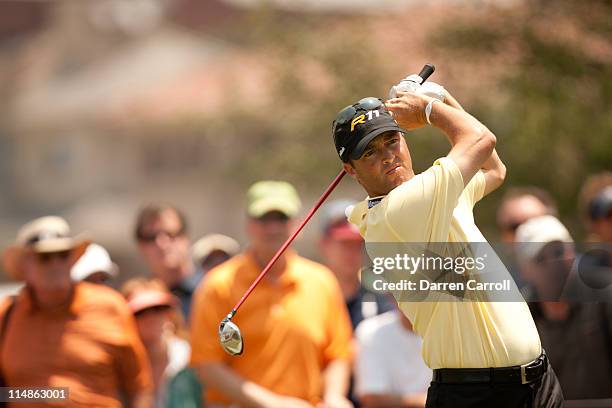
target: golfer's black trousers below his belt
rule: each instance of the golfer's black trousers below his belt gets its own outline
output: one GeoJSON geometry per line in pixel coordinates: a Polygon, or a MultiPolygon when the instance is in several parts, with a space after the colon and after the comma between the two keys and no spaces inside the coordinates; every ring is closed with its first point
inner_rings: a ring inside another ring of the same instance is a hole
{"type": "Polygon", "coordinates": [[[432,382],[426,408],[561,408],[563,392],[550,364],[530,384],[442,384],[432,382]]]}

